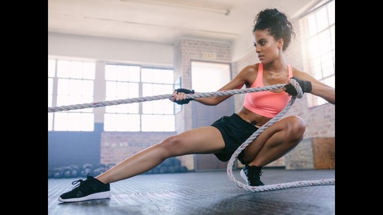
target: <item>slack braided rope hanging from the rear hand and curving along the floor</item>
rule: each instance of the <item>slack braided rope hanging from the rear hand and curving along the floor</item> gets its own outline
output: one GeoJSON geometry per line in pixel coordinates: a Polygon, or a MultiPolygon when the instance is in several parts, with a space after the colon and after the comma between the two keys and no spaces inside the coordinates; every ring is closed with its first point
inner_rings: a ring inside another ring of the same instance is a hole
{"type": "Polygon", "coordinates": [[[251,142],[253,142],[253,140],[255,140],[255,138],[257,138],[261,132],[266,130],[266,128],[270,127],[271,125],[276,123],[281,117],[283,117],[286,114],[286,112],[288,112],[291,109],[296,98],[303,97],[303,92],[299,84],[294,79],[290,79],[289,82],[295,87],[295,89],[298,92],[298,95],[293,96],[291,100],[289,101],[289,103],[284,107],[284,109],[277,116],[275,116],[266,124],[262,125],[240,147],[238,147],[237,150],[235,150],[235,152],[233,153],[233,155],[231,155],[229,163],[227,164],[227,176],[229,177],[229,179],[235,185],[247,191],[252,191],[252,192],[276,191],[276,190],[288,189],[292,187],[335,184],[335,179],[332,178],[332,179],[322,179],[322,180],[296,181],[296,182],[290,182],[290,183],[270,184],[270,185],[263,185],[263,186],[250,186],[250,185],[242,183],[241,181],[238,181],[233,175],[233,165],[234,165],[234,162],[236,161],[238,154],[240,154],[251,142]]]}

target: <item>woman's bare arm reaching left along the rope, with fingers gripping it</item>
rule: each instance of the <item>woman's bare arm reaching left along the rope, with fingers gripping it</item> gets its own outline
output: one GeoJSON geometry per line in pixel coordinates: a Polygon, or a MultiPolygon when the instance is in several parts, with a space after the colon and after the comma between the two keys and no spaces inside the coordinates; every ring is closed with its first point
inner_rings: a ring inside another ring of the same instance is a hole
{"type": "MultiPolygon", "coordinates": [[[[248,82],[247,78],[254,74],[255,66],[247,66],[240,73],[238,73],[229,83],[220,88],[218,91],[224,90],[233,90],[233,89],[241,89],[245,83],[248,82]]],[[[231,95],[230,95],[231,96],[231,95]]],[[[195,101],[198,101],[205,105],[217,105],[222,101],[226,100],[230,96],[213,96],[208,98],[196,98],[195,101]]],[[[172,94],[171,101],[179,101],[186,98],[184,93],[176,93],[176,91],[172,94]]]]}

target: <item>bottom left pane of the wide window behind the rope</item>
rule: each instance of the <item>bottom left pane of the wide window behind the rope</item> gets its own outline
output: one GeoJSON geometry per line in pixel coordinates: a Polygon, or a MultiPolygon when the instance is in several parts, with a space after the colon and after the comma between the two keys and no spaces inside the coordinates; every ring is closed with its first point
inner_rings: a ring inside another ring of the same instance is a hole
{"type": "Polygon", "coordinates": [[[138,114],[105,114],[105,131],[139,131],[140,117],[138,114]]]}

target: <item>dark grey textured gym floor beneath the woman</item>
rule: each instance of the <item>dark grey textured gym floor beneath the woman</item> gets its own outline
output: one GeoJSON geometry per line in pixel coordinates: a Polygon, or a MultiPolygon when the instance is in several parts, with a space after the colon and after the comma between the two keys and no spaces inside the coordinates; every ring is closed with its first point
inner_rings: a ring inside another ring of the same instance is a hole
{"type": "MultiPolygon", "coordinates": [[[[335,178],[335,170],[262,171],[265,184],[335,178]]],[[[226,171],[152,174],[112,183],[110,199],[57,201],[74,180],[48,179],[48,214],[335,214],[335,185],[252,193],[226,171]]]]}

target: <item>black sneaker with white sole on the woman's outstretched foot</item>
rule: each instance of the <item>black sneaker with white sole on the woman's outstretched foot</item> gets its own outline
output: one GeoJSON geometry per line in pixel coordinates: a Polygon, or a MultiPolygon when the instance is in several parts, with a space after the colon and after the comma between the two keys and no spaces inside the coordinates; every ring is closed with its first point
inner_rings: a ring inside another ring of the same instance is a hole
{"type": "Polygon", "coordinates": [[[104,184],[93,176],[88,175],[85,181],[80,179],[73,181],[72,184],[77,184],[77,186],[73,187],[71,191],[61,194],[58,199],[60,202],[80,202],[110,197],[110,184],[104,184]]]}

